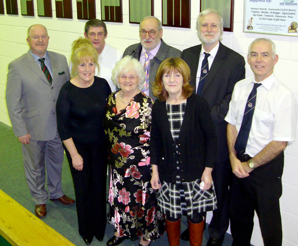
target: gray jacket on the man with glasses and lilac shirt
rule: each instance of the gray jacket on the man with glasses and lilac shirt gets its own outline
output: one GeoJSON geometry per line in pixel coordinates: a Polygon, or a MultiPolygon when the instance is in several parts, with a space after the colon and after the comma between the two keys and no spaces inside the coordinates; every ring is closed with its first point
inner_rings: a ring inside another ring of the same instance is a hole
{"type": "MultiPolygon", "coordinates": [[[[123,53],[123,57],[129,55],[133,58],[136,58],[138,61],[140,61],[140,56],[142,52],[142,44],[133,44],[126,48],[126,50],[123,53]]],[[[161,39],[161,45],[160,48],[156,54],[156,56],[150,60],[149,62],[149,88],[151,88],[151,82],[155,81],[155,75],[157,72],[157,69],[165,59],[170,57],[180,57],[181,51],[167,45],[162,39],[161,39]]],[[[149,96],[153,99],[156,99],[155,96],[153,96],[151,89],[149,89],[149,96]]]]}

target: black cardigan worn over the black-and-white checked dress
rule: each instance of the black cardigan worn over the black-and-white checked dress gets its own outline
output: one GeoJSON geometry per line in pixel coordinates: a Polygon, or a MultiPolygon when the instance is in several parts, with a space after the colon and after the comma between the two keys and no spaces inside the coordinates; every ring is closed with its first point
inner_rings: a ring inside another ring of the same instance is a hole
{"type": "Polygon", "coordinates": [[[178,153],[172,138],[165,101],[156,100],[152,107],[150,163],[158,165],[159,179],[175,183],[177,160],[182,182],[201,178],[205,167],[216,161],[217,138],[207,101],[199,95],[187,98],[178,138],[178,153]]]}

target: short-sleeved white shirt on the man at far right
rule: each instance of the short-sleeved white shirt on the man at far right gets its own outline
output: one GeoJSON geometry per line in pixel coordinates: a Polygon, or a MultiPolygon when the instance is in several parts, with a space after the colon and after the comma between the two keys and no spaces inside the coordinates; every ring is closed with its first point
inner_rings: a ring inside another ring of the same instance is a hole
{"type": "MultiPolygon", "coordinates": [[[[225,121],[239,132],[254,76],[235,84],[225,121]]],[[[295,141],[298,106],[292,91],[274,75],[261,81],[245,153],[257,155],[271,141],[295,141]]]]}

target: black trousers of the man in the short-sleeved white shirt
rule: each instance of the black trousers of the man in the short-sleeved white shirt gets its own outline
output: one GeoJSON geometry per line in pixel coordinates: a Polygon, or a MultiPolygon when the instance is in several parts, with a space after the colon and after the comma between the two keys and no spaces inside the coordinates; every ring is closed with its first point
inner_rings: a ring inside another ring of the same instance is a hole
{"type": "Polygon", "coordinates": [[[264,246],[282,245],[279,199],[282,195],[283,169],[284,153],[281,153],[271,162],[257,167],[246,178],[233,176],[230,187],[232,246],[250,246],[254,210],[259,218],[264,246]]]}

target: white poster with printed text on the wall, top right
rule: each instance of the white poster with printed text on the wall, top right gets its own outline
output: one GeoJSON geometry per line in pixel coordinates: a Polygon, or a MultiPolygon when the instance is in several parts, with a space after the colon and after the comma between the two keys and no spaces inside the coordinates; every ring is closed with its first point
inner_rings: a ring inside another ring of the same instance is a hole
{"type": "Polygon", "coordinates": [[[245,0],[243,32],[298,36],[298,0],[245,0]]]}

